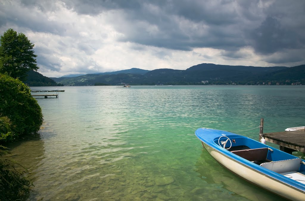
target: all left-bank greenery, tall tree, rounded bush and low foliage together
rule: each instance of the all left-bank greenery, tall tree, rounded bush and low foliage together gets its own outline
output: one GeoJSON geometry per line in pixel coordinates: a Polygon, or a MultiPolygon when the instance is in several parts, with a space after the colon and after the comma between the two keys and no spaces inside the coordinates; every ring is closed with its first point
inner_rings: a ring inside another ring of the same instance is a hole
{"type": "Polygon", "coordinates": [[[35,135],[43,122],[41,107],[24,81],[27,72],[38,70],[34,44],[23,33],[8,29],[0,38],[0,197],[25,200],[31,186],[27,167],[5,155],[4,146],[25,136],[35,135]],[[4,158],[5,156],[5,158],[4,158]]]}

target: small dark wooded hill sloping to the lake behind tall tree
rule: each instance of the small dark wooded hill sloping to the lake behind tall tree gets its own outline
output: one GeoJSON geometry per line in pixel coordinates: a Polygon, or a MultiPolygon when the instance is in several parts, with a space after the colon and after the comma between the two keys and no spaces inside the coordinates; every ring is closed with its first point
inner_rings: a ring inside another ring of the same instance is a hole
{"type": "Polygon", "coordinates": [[[23,83],[30,87],[45,87],[45,86],[63,86],[63,84],[58,84],[51,78],[45,77],[38,73],[37,71],[30,70],[27,72],[27,80],[23,83]]]}

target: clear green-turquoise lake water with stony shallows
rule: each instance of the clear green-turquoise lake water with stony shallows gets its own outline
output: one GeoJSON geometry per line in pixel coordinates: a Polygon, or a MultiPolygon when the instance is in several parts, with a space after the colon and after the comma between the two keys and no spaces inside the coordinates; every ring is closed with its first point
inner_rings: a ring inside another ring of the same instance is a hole
{"type": "MultiPolygon", "coordinates": [[[[194,132],[256,128],[260,118],[264,132],[301,126],[305,87],[61,89],[37,99],[40,137],[11,147],[34,182],[29,200],[281,200],[219,165],[194,132]]],[[[257,140],[259,129],[235,133],[257,140]]]]}

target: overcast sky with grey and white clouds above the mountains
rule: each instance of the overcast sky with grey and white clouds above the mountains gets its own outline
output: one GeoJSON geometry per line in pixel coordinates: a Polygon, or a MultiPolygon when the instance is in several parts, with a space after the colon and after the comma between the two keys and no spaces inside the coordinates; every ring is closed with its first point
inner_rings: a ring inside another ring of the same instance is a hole
{"type": "Polygon", "coordinates": [[[304,0],[0,0],[0,35],[9,28],[47,77],[305,64],[304,0]]]}

